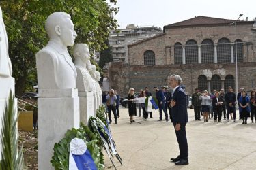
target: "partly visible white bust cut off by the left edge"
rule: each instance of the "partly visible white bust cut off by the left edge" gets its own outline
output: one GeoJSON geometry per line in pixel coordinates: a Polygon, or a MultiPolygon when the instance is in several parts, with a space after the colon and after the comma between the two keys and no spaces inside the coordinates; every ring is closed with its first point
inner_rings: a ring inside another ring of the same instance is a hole
{"type": "Polygon", "coordinates": [[[2,10],[0,7],[0,77],[12,75],[12,63],[8,54],[8,37],[3,23],[2,10]]]}

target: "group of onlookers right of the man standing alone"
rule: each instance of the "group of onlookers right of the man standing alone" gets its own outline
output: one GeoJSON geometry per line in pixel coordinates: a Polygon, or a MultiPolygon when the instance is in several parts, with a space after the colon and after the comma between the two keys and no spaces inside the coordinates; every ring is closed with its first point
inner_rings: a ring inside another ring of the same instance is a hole
{"type": "Polygon", "coordinates": [[[198,88],[192,95],[192,105],[194,107],[195,120],[201,120],[203,116],[204,122],[213,118],[214,122],[221,122],[224,116],[225,122],[229,122],[229,116],[233,122],[237,122],[236,105],[239,107],[239,119],[242,119],[242,124],[247,124],[247,120],[251,117],[251,122],[256,122],[256,91],[251,90],[251,94],[247,95],[244,88],[240,88],[240,92],[236,95],[231,86],[228,92],[225,93],[222,88],[219,92],[213,90],[212,94],[207,90],[202,93],[198,88]]]}

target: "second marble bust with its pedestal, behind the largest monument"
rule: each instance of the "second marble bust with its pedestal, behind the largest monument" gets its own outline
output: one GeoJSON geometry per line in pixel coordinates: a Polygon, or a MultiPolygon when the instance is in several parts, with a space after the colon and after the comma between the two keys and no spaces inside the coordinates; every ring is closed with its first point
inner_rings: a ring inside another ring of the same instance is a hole
{"type": "Polygon", "coordinates": [[[77,72],[76,84],[79,91],[80,121],[87,124],[89,117],[96,113],[94,110],[94,80],[86,67],[90,59],[87,44],[74,46],[74,58],[77,72]]]}

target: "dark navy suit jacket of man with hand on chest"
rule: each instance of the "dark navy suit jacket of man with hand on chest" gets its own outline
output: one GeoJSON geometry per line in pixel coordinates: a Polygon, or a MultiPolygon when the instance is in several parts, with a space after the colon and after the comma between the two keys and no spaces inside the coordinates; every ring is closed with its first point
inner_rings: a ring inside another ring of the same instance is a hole
{"type": "Polygon", "coordinates": [[[186,93],[180,87],[173,92],[173,101],[176,105],[171,107],[173,114],[173,124],[188,122],[188,112],[186,108],[186,93]]]}

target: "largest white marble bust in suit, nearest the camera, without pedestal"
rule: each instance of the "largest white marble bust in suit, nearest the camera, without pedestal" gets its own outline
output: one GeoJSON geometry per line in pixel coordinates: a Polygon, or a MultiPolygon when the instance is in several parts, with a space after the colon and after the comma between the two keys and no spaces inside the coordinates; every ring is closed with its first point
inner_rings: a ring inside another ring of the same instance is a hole
{"type": "Polygon", "coordinates": [[[76,88],[76,68],[68,54],[76,32],[69,14],[54,12],[45,24],[50,41],[36,54],[38,87],[40,89],[76,88]]]}

